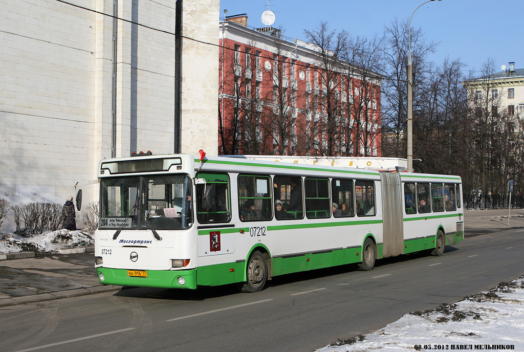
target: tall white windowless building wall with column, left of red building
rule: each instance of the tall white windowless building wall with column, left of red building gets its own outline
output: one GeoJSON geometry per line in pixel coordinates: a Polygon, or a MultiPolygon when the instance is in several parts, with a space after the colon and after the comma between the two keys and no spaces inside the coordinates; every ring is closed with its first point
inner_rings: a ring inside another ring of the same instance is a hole
{"type": "MultiPolygon", "coordinates": [[[[0,196],[11,205],[63,203],[104,158],[217,154],[219,0],[0,8],[0,196]]],[[[84,204],[97,192],[84,188],[84,204]]]]}

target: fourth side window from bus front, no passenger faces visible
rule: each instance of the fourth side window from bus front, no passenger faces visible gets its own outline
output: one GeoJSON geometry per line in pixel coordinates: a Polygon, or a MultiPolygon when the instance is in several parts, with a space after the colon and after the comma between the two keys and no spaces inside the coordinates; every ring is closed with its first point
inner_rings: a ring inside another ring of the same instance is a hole
{"type": "Polygon", "coordinates": [[[329,180],[307,178],[305,189],[305,215],[308,219],[331,216],[329,180]]]}

